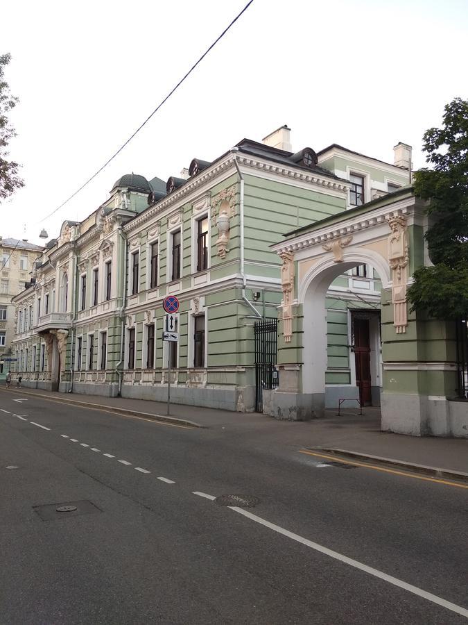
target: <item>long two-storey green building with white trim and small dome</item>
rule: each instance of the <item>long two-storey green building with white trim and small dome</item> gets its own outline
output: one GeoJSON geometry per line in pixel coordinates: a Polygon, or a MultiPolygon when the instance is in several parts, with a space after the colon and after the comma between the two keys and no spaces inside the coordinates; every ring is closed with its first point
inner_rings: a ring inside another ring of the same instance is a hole
{"type": "Polygon", "coordinates": [[[64,222],[35,283],[15,298],[18,310],[35,311],[15,338],[24,384],[164,400],[170,358],[173,401],[252,411],[265,386],[255,375],[254,325],[279,316],[279,389],[265,392],[267,412],[310,418],[342,398],[379,405],[380,265],[363,253],[342,263],[351,231],[338,244],[329,233],[320,240],[335,262],[317,322],[324,387],[311,402],[297,399],[302,382],[293,373],[302,372],[298,350],[311,334],[297,325],[293,297],[304,269],[291,269],[296,261],[284,253],[314,224],[397,201],[409,183],[410,147],[397,144],[390,164],[337,144],[293,153],[289,134],[282,126],[214,161],[194,158],[166,183],[123,176],[87,219],[64,222]],[[162,341],[168,294],[180,299],[180,340],[171,344],[162,341]],[[276,408],[274,397],[283,397],[276,408]]]}

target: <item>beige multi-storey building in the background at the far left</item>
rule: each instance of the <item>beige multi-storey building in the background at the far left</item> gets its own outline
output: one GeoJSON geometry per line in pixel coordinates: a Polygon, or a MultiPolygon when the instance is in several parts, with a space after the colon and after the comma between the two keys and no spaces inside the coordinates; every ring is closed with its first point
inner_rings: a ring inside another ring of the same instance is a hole
{"type": "Polygon", "coordinates": [[[12,297],[24,290],[33,270],[33,263],[42,253],[42,247],[26,239],[0,237],[0,380],[10,369],[3,360],[11,355],[11,342],[15,335],[15,305],[12,297]]]}

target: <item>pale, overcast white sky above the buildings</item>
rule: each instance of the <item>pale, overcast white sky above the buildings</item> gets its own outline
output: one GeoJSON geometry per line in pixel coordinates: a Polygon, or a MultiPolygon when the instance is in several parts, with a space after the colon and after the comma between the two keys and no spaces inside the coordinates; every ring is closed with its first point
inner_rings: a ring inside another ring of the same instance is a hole
{"type": "Polygon", "coordinates": [[[247,0],[15,0],[1,8],[0,54],[20,99],[10,158],[25,186],[0,205],[3,237],[58,236],[123,174],[164,181],[192,158],[288,124],[293,150],[338,143],[393,162],[397,142],[425,165],[422,135],[468,97],[468,0],[254,0],[137,137],[247,0]]]}

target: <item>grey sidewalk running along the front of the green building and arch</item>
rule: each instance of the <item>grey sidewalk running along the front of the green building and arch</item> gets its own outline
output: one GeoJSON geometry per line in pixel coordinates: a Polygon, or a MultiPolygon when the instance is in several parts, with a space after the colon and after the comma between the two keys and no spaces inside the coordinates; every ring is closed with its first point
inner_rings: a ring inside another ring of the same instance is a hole
{"type": "MultiPolygon", "coordinates": [[[[10,389],[8,392],[22,394],[21,397],[32,394],[42,396],[42,399],[73,402],[77,405],[83,403],[84,406],[94,404],[103,406],[106,410],[127,411],[130,414],[135,412],[135,415],[141,416],[166,415],[165,403],[144,399],[62,394],[30,388],[10,389]]],[[[245,443],[249,442],[254,447],[281,445],[291,449],[339,449],[372,456],[375,461],[386,458],[468,474],[468,440],[381,432],[378,410],[364,408],[362,416],[356,414],[357,412],[358,410],[348,409],[338,417],[336,410],[327,410],[324,419],[285,422],[256,412],[245,414],[182,404],[171,405],[171,416],[181,419],[182,423],[236,433],[240,444],[245,439],[245,443]]]]}

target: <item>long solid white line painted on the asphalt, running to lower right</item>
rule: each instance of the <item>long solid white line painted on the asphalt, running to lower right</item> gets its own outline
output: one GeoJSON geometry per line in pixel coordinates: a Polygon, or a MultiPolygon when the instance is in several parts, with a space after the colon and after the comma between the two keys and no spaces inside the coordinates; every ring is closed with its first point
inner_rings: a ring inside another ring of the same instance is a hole
{"type": "MultiPolygon", "coordinates": [[[[203,494],[200,492],[195,493],[195,494],[201,494],[203,496],[203,494]]],[[[209,495],[205,495],[204,497],[208,497],[209,499],[211,499],[209,495]]],[[[332,551],[331,549],[327,549],[327,547],[322,547],[321,544],[312,542],[311,540],[307,540],[307,538],[303,538],[302,536],[298,534],[295,534],[282,527],[279,527],[279,525],[275,525],[273,523],[270,523],[269,521],[266,521],[265,519],[261,519],[261,517],[257,517],[257,515],[252,515],[252,512],[248,512],[247,510],[243,510],[242,508],[237,508],[236,506],[232,506],[231,510],[234,510],[234,512],[239,512],[240,515],[243,515],[244,517],[247,517],[248,519],[251,519],[252,521],[256,523],[264,525],[265,527],[268,527],[269,529],[272,529],[273,531],[278,532],[279,534],[283,534],[284,536],[287,536],[288,538],[291,538],[292,540],[301,542],[302,544],[305,544],[306,547],[315,549],[315,551],[320,551],[320,553],[324,553],[325,556],[329,556],[330,558],[334,558],[335,560],[340,560],[340,562],[344,562],[345,564],[351,567],[354,567],[355,569],[359,569],[360,571],[373,575],[374,577],[383,579],[383,581],[393,584],[394,586],[398,586],[399,588],[403,588],[404,590],[408,590],[408,592],[413,592],[413,594],[417,594],[418,597],[427,599],[427,601],[432,601],[433,603],[437,603],[437,606],[442,606],[442,608],[447,608],[447,610],[451,610],[451,612],[456,612],[456,614],[460,614],[464,617],[468,617],[468,610],[465,610],[465,608],[462,608],[461,606],[457,606],[456,603],[451,603],[450,601],[446,601],[445,599],[442,599],[441,597],[437,597],[435,594],[431,594],[431,592],[426,592],[426,590],[422,590],[421,588],[418,588],[417,586],[413,586],[412,584],[408,584],[404,581],[401,581],[401,579],[397,579],[396,577],[387,575],[386,573],[378,571],[377,569],[368,567],[367,565],[362,564],[361,562],[358,562],[357,560],[353,560],[352,558],[347,558],[347,556],[343,556],[341,553],[338,553],[337,551],[332,551]]]]}

